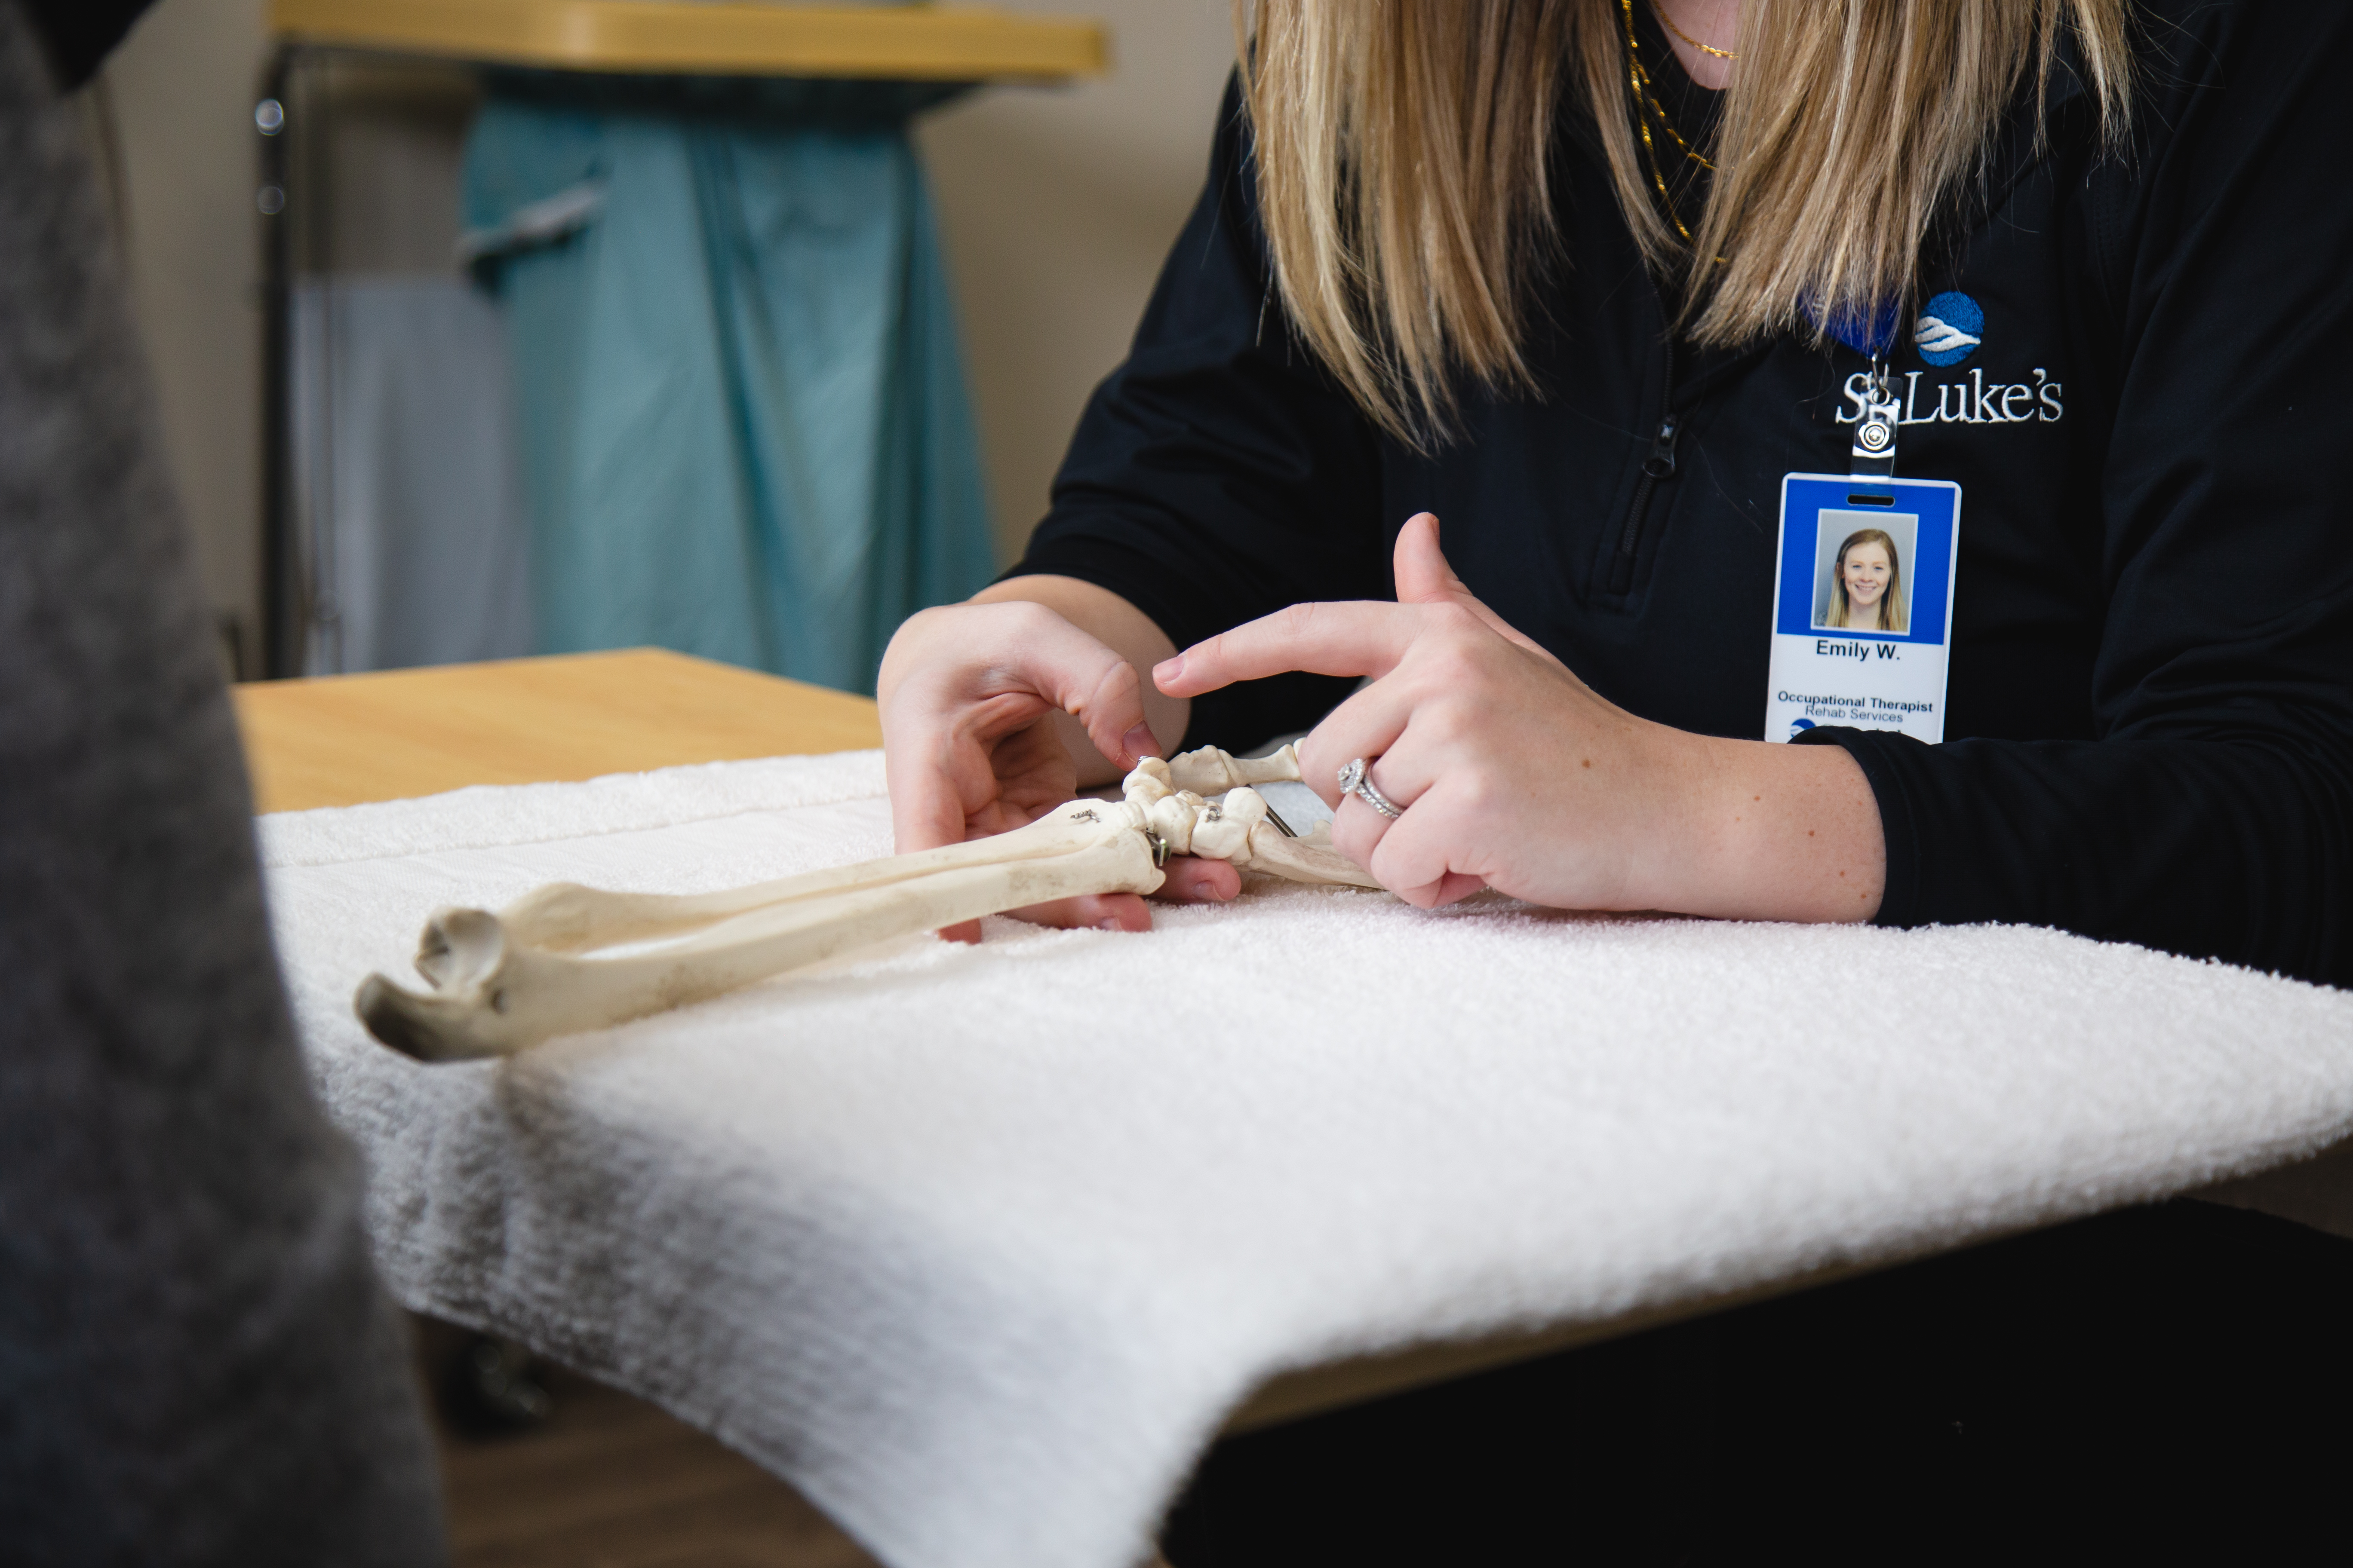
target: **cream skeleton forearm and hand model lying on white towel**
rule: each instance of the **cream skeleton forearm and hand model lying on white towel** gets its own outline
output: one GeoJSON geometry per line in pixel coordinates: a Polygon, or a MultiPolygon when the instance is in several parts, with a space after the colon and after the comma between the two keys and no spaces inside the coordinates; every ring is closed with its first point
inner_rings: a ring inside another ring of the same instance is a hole
{"type": "Polygon", "coordinates": [[[1151,893],[1172,856],[1231,860],[1289,882],[1379,886],[1325,839],[1294,839],[1249,785],[1297,780],[1292,748],[1146,759],[1122,799],[1075,799],[1028,827],[725,893],[600,893],[558,882],[499,914],[440,910],[416,971],[431,992],[367,976],[360,1020],[419,1060],[511,1056],[704,1001],[838,952],[1085,893],[1151,893]],[[1207,795],[1224,795],[1219,802],[1207,795]],[[584,957],[671,940],[652,952],[584,957]]]}

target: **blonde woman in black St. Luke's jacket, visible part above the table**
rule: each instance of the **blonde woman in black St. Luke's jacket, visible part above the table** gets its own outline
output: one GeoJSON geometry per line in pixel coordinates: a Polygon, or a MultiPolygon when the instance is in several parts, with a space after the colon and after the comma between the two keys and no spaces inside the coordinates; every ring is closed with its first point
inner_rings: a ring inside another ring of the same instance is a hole
{"type": "Polygon", "coordinates": [[[2315,816],[2353,802],[2348,12],[1245,5],[1052,512],[885,656],[901,846],[1313,726],[1339,844],[1414,903],[2014,919],[2353,980],[2315,816]],[[1901,470],[1965,494],[1948,743],[1767,745],[1779,480],[1840,470],[1873,355],[1901,470]],[[1339,799],[1355,757],[1400,818],[1339,799]]]}

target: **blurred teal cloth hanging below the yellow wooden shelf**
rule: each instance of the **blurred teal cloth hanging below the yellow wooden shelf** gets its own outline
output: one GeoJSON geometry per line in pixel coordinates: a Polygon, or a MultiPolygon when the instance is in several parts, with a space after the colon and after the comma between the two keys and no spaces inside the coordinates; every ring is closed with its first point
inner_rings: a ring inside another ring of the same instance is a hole
{"type": "Polygon", "coordinates": [[[873,691],[988,581],[955,310],[899,82],[501,75],[466,237],[511,334],[544,651],[873,691]]]}

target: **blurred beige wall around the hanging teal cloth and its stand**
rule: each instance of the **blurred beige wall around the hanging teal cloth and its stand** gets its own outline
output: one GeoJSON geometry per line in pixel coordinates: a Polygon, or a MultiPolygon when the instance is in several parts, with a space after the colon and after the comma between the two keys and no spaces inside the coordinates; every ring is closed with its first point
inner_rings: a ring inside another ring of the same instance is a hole
{"type": "MultiPolygon", "coordinates": [[[[1200,193],[1233,59],[1226,0],[995,0],[1108,24],[1113,68],[1075,87],[991,87],[927,115],[962,310],[998,548],[1012,559],[1094,383],[1120,360],[1153,275],[1200,193]]],[[[165,440],[224,649],[252,672],[259,597],[259,233],[252,106],[264,0],[160,0],[108,63],[132,292],[165,440]]],[[[449,273],[459,71],[329,75],[336,136],[320,214],[339,268],[449,273]]]]}

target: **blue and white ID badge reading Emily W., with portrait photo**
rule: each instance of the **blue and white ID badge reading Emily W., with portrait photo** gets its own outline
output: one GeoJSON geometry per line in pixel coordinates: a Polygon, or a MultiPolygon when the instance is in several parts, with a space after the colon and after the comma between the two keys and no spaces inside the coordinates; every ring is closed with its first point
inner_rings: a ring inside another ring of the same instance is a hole
{"type": "Polygon", "coordinates": [[[1817,724],[1944,741],[1960,484],[1781,480],[1765,738],[1817,724]]]}

